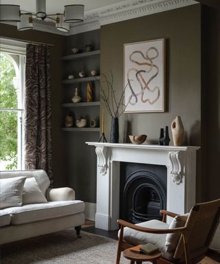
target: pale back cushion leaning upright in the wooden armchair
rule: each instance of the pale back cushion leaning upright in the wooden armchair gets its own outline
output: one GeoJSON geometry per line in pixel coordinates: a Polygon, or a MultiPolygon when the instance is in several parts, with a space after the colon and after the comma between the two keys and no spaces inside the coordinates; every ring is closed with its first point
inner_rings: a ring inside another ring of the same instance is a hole
{"type": "MultiPolygon", "coordinates": [[[[188,214],[177,215],[170,223],[169,229],[182,228],[186,224],[188,214]]],[[[170,233],[166,235],[165,248],[167,252],[173,252],[177,248],[181,233],[170,233]]]]}

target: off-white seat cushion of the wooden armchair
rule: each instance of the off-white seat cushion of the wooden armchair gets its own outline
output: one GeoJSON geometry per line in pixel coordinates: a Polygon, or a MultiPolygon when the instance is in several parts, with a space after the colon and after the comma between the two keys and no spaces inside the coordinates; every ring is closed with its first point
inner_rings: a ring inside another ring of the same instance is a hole
{"type": "MultiPolygon", "coordinates": [[[[143,223],[137,223],[137,225],[144,228],[153,228],[153,229],[168,229],[169,225],[159,220],[150,220],[143,223]]],[[[173,252],[166,252],[165,242],[166,234],[151,234],[146,232],[140,232],[133,230],[131,228],[124,228],[123,240],[126,243],[131,245],[139,245],[146,243],[153,243],[159,248],[159,251],[162,252],[162,256],[165,259],[173,259],[173,252]]]]}

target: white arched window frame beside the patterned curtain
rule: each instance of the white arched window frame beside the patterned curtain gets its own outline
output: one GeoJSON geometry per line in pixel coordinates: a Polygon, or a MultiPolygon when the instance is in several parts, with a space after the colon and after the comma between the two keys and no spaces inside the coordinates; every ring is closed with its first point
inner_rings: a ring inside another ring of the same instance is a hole
{"type": "Polygon", "coordinates": [[[24,169],[24,157],[25,151],[23,147],[24,137],[24,126],[23,126],[23,113],[24,113],[24,96],[25,96],[25,62],[26,62],[26,43],[20,41],[14,41],[11,39],[0,38],[0,52],[5,54],[16,54],[19,56],[19,65],[13,60],[12,56],[10,59],[16,69],[16,75],[19,77],[19,93],[18,93],[18,108],[17,109],[3,109],[1,111],[17,111],[18,113],[18,149],[17,149],[17,170],[24,169]]]}

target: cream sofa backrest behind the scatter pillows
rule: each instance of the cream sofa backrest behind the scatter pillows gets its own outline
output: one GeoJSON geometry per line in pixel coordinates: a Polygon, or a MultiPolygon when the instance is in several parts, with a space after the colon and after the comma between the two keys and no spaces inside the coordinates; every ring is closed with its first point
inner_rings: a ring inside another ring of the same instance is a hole
{"type": "Polygon", "coordinates": [[[14,177],[34,177],[39,184],[39,188],[43,195],[46,196],[46,190],[50,186],[50,179],[45,170],[2,170],[0,171],[0,179],[14,177]]]}

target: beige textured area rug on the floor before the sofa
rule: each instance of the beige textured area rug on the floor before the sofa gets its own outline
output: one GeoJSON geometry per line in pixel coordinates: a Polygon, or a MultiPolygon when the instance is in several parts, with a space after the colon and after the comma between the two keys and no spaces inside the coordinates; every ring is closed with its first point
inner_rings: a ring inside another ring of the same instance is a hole
{"type": "MultiPolygon", "coordinates": [[[[74,229],[1,246],[1,264],[114,264],[118,242],[74,229]]],[[[129,260],[121,257],[120,264],[129,260]]]]}

